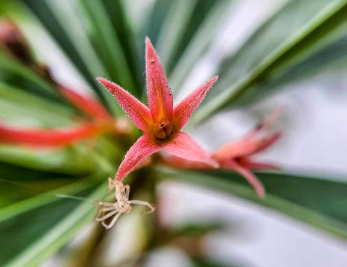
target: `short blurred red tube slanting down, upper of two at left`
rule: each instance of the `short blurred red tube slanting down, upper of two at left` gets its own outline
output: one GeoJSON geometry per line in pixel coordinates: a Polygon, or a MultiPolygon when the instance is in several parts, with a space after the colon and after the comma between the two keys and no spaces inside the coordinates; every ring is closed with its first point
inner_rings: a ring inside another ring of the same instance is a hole
{"type": "Polygon", "coordinates": [[[101,103],[93,97],[86,97],[67,87],[60,87],[60,92],[76,107],[84,111],[93,118],[111,118],[109,112],[101,105],[101,103]]]}

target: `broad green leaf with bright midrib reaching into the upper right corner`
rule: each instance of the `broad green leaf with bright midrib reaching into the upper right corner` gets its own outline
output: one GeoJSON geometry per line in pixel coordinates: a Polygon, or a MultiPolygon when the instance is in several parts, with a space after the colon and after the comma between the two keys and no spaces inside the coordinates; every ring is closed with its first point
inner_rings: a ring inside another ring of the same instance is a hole
{"type": "Polygon", "coordinates": [[[284,72],[345,35],[346,0],[291,0],[219,69],[220,79],[191,124],[226,107],[249,88],[284,72]],[[295,20],[292,18],[295,17],[295,20]],[[216,96],[217,95],[217,96],[216,96]]]}

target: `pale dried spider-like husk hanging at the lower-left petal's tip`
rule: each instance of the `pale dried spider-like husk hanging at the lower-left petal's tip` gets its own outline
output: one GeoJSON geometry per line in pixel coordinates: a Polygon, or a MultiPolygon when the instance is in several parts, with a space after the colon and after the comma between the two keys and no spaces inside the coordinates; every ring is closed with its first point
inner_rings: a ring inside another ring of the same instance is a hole
{"type": "Polygon", "coordinates": [[[101,222],[106,229],[110,229],[113,225],[115,225],[120,215],[123,213],[129,213],[132,210],[131,205],[133,204],[147,206],[150,209],[147,214],[154,211],[154,207],[146,201],[129,200],[129,185],[123,185],[122,182],[109,178],[109,190],[112,190],[113,188],[115,188],[114,197],[116,202],[94,201],[94,204],[100,206],[98,213],[95,216],[95,220],[97,222],[101,222]],[[111,222],[107,224],[105,220],[111,218],[112,216],[113,218],[111,222]]]}

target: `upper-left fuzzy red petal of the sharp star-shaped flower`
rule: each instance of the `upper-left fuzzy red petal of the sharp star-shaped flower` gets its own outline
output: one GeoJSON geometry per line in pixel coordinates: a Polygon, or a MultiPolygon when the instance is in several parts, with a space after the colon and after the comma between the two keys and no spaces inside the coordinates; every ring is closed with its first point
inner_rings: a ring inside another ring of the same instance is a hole
{"type": "Polygon", "coordinates": [[[140,130],[147,133],[149,131],[148,125],[152,123],[150,110],[117,84],[103,78],[97,78],[97,80],[116,97],[119,105],[124,109],[135,125],[140,130]]]}

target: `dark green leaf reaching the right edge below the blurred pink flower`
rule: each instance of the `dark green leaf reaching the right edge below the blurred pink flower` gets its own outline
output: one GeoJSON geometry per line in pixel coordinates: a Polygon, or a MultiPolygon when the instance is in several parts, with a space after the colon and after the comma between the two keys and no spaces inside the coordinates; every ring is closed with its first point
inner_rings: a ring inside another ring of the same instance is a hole
{"type": "Polygon", "coordinates": [[[266,189],[265,199],[245,179],[230,172],[161,170],[163,178],[177,179],[231,193],[347,239],[347,183],[280,173],[257,173],[266,189]]]}

